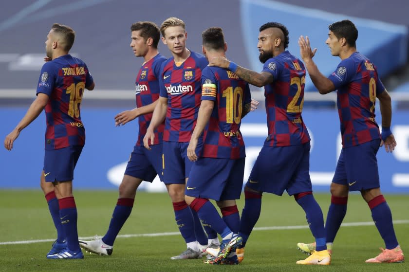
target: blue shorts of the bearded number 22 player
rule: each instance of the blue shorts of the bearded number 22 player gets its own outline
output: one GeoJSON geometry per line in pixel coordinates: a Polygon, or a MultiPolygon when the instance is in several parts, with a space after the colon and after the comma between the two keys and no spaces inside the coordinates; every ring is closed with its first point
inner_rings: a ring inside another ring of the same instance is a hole
{"type": "Polygon", "coordinates": [[[303,145],[261,148],[246,186],[260,192],[292,196],[312,191],[310,142],[303,145]]]}

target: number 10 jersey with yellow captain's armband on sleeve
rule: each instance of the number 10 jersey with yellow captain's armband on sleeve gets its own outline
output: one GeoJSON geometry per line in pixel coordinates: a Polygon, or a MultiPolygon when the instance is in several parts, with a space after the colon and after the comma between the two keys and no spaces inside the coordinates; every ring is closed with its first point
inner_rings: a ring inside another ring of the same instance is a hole
{"type": "Polygon", "coordinates": [[[202,100],[215,102],[203,134],[202,157],[244,158],[240,125],[243,110],[250,108],[248,83],[229,70],[206,67],[202,71],[202,100]]]}

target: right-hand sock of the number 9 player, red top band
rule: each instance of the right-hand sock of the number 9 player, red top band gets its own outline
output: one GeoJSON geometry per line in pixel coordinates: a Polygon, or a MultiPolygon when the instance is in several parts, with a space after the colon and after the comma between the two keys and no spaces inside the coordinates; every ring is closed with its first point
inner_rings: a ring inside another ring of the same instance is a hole
{"type": "Polygon", "coordinates": [[[377,196],[368,202],[368,206],[371,209],[372,219],[375,222],[376,228],[385,241],[385,247],[387,249],[394,249],[399,244],[393,229],[392,213],[386,199],[383,195],[377,196]]]}

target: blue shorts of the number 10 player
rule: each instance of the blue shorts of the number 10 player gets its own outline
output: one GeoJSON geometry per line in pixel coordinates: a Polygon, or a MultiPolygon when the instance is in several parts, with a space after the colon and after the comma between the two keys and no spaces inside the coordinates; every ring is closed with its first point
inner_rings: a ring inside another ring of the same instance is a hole
{"type": "Polygon", "coordinates": [[[240,199],[245,158],[199,158],[190,170],[185,195],[195,198],[240,199]]]}

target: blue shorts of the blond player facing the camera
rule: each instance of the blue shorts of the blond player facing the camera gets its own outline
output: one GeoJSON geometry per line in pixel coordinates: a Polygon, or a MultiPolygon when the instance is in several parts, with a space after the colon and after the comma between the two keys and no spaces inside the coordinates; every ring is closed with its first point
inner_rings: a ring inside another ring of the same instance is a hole
{"type": "MultiPolygon", "coordinates": [[[[163,176],[165,184],[185,184],[189,177],[193,162],[187,158],[187,146],[189,142],[163,141],[164,167],[163,176]]],[[[202,143],[198,142],[196,154],[201,150],[202,143]]]]}

